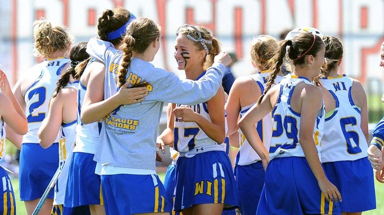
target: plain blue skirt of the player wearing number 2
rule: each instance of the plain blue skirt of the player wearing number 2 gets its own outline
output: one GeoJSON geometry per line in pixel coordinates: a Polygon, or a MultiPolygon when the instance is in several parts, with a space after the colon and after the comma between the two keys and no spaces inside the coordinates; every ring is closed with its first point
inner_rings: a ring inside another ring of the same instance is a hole
{"type": "MultiPolygon", "coordinates": [[[[39,199],[59,167],[59,145],[44,149],[38,143],[23,143],[20,151],[19,187],[21,201],[39,199]]],[[[53,199],[54,190],[48,194],[53,199]]]]}

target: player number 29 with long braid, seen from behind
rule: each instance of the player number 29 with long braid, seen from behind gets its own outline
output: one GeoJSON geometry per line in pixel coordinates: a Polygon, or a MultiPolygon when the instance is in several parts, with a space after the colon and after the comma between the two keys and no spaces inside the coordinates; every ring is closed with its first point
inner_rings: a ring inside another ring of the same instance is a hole
{"type": "Polygon", "coordinates": [[[270,159],[267,168],[263,163],[265,185],[257,215],[340,214],[340,193],[326,178],[319,160],[325,110],[322,91],[312,81],[320,73],[324,52],[323,40],[311,33],[281,41],[263,95],[239,121],[261,160],[270,159]],[[271,88],[287,46],[292,75],[271,88]],[[268,155],[255,123],[271,111],[274,126],[268,155]]]}

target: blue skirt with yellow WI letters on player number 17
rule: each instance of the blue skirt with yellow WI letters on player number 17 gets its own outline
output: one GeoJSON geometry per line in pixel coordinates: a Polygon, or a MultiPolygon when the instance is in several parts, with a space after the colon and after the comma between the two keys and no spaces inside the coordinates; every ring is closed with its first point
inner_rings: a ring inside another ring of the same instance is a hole
{"type": "Polygon", "coordinates": [[[238,207],[232,165],[224,151],[208,151],[192,158],[180,157],[176,164],[175,211],[199,204],[238,207]]]}

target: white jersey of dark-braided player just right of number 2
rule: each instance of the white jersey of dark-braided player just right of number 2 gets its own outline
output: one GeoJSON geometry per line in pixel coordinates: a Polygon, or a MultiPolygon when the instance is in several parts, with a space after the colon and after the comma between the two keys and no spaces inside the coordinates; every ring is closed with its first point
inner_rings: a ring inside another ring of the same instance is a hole
{"type": "MultiPolygon", "coordinates": [[[[78,88],[79,82],[74,82],[65,88],[78,88]]],[[[55,184],[53,205],[64,205],[65,188],[68,181],[69,165],[73,146],[76,139],[76,122],[62,123],[59,131],[59,165],[61,173],[55,184]]]]}

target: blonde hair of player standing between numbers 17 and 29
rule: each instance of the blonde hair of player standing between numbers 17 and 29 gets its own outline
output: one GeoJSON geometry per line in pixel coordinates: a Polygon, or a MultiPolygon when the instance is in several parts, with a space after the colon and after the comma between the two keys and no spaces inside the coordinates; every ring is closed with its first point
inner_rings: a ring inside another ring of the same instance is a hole
{"type": "Polygon", "coordinates": [[[276,39],[269,35],[260,35],[251,42],[252,62],[261,70],[271,70],[273,66],[273,56],[279,50],[276,39]]]}

